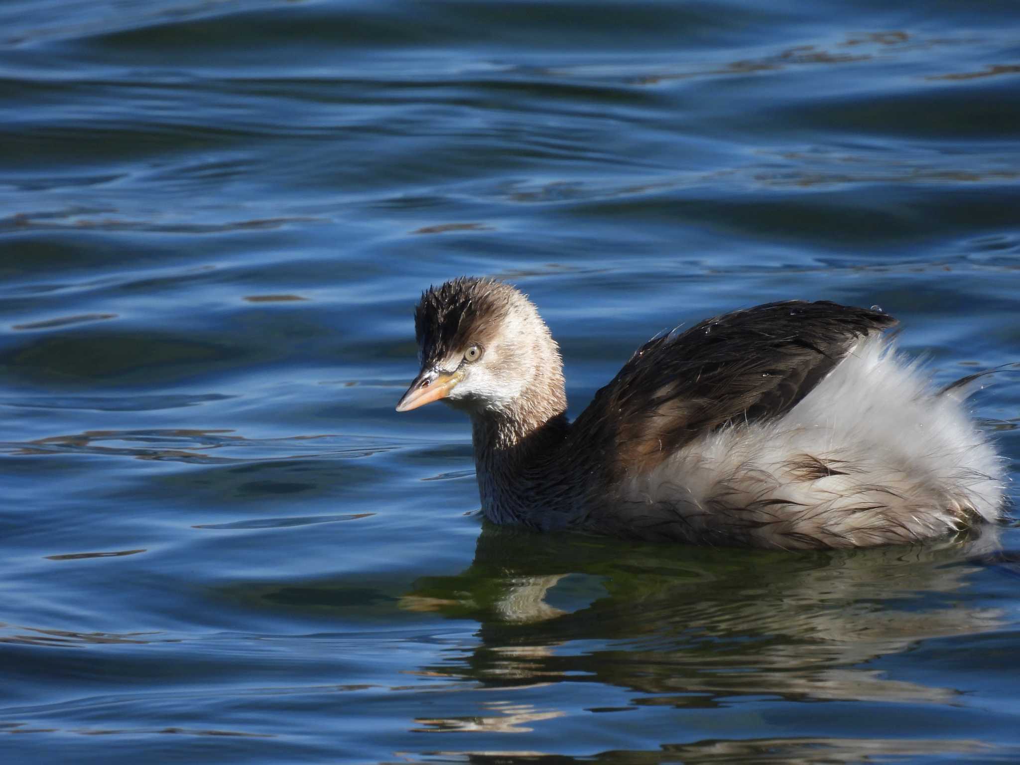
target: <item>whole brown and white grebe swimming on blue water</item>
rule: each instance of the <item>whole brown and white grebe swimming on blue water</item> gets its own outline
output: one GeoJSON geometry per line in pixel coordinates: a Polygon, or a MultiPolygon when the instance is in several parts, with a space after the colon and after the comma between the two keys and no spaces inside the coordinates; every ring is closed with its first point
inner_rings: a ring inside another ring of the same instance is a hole
{"type": "Polygon", "coordinates": [[[999,517],[1003,467],[898,356],[884,313],[768,303],[646,343],[572,423],[559,348],[510,285],[462,277],[414,314],[397,411],[471,417],[486,515],[541,530],[786,549],[915,543],[999,517]]]}

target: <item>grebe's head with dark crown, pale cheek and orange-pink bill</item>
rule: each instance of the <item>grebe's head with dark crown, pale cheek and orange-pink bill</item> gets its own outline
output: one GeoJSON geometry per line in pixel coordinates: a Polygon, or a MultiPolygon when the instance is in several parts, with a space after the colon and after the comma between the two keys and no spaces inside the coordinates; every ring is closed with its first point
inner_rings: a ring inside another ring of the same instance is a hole
{"type": "Polygon", "coordinates": [[[566,409],[556,342],[510,285],[462,277],[430,287],[415,308],[414,329],[421,371],[398,412],[440,400],[472,417],[566,409]]]}

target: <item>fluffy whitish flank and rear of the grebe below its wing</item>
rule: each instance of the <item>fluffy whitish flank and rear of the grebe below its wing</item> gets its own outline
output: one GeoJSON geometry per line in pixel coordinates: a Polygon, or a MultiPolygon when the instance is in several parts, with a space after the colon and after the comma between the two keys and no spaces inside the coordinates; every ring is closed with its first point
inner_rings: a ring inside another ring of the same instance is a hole
{"type": "Polygon", "coordinates": [[[933,393],[918,362],[873,336],[779,419],[706,435],[628,481],[629,522],[796,549],[914,543],[996,520],[1004,466],[958,394],[933,393]]]}

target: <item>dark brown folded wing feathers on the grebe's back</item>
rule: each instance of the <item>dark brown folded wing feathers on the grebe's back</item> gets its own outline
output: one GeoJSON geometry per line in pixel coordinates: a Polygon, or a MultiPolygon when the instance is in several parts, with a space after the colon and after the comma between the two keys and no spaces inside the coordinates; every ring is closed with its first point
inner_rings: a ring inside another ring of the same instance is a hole
{"type": "Polygon", "coordinates": [[[622,473],[650,470],[700,434],[789,411],[858,339],[895,323],[827,301],[706,319],[642,346],[596,394],[574,435],[615,450],[622,473]]]}

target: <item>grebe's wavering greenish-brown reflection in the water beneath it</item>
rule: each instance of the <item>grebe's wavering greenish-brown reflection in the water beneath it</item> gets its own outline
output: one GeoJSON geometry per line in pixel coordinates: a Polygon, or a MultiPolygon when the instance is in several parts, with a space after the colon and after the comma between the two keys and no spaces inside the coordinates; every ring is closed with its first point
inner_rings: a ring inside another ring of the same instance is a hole
{"type": "Polygon", "coordinates": [[[945,704],[961,692],[867,665],[1001,626],[968,589],[997,549],[994,529],[938,545],[734,554],[487,523],[468,569],[417,580],[401,606],[477,620],[476,646],[422,673],[487,687],[583,677],[628,688],[634,707],[755,695],[945,704]],[[568,582],[572,604],[557,597],[568,582]]]}

